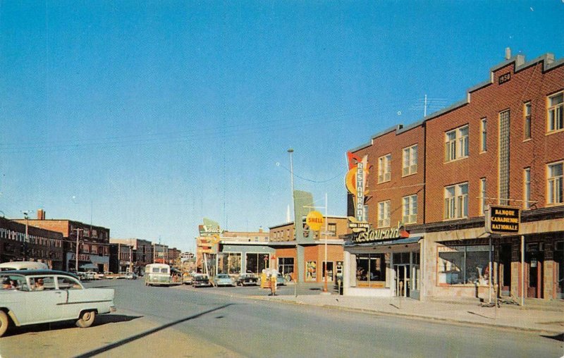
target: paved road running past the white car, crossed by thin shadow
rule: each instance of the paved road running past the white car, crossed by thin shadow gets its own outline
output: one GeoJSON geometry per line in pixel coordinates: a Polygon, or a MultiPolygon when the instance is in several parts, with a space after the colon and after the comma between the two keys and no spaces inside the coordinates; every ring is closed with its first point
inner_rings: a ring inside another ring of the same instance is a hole
{"type": "Polygon", "coordinates": [[[562,357],[564,354],[561,340],[531,333],[230,297],[231,290],[266,295],[266,291],[257,288],[148,288],[142,280],[103,280],[90,285],[116,288],[118,312],[106,316],[109,321],[87,329],[69,325],[55,331],[45,326],[19,329],[1,338],[1,357],[22,357],[8,353],[18,352],[14,350],[17,346],[29,347],[42,339],[44,342],[47,336],[52,340],[49,347],[36,346],[29,352],[44,357],[80,354],[93,357],[98,353],[100,357],[136,353],[149,356],[154,355],[151,352],[155,349],[159,355],[168,357],[562,357]],[[212,295],[216,290],[223,295],[212,295]],[[57,347],[69,345],[80,349],[55,354],[57,347]]]}

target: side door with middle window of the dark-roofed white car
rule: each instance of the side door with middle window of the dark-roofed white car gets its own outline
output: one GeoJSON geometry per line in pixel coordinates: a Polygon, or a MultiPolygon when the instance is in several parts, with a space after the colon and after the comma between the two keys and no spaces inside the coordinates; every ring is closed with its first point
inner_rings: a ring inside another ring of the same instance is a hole
{"type": "Polygon", "coordinates": [[[42,323],[59,321],[63,316],[63,304],[66,302],[66,292],[58,290],[54,276],[33,276],[29,278],[30,290],[25,295],[26,321],[28,323],[42,323]],[[35,283],[43,280],[43,288],[37,290],[35,283]]]}

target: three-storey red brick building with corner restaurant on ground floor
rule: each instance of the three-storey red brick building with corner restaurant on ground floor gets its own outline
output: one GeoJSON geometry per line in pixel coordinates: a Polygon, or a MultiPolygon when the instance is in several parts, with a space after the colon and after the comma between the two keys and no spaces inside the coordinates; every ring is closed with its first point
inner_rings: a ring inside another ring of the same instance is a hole
{"type": "Polygon", "coordinates": [[[371,228],[345,243],[345,294],[562,299],[563,142],[564,60],[518,55],[463,101],[351,150],[351,170],[372,165],[353,180],[371,228]],[[486,232],[490,206],[520,209],[517,231],[486,232]]]}

